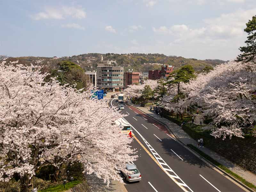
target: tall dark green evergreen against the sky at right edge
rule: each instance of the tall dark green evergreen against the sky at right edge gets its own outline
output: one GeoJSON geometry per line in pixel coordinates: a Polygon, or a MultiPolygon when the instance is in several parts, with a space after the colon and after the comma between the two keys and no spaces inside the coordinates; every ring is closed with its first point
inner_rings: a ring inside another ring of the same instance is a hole
{"type": "Polygon", "coordinates": [[[244,31],[248,33],[246,46],[239,48],[242,53],[237,56],[236,61],[256,63],[256,15],[246,23],[244,31]]]}

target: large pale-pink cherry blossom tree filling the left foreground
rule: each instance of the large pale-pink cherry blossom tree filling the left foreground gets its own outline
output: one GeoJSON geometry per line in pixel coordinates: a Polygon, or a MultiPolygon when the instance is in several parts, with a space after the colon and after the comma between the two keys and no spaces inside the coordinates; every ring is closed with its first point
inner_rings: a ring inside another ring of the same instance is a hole
{"type": "Polygon", "coordinates": [[[137,158],[114,121],[121,115],[91,90],[61,86],[56,78],[15,63],[0,64],[0,181],[20,175],[28,191],[36,169],[78,161],[109,184],[137,158]]]}

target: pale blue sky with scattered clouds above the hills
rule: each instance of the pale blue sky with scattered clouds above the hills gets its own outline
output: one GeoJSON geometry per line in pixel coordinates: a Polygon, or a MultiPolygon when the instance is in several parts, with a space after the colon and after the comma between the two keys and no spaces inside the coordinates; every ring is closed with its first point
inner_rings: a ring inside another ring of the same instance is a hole
{"type": "Polygon", "coordinates": [[[231,60],[256,0],[0,0],[0,55],[163,53],[231,60]]]}

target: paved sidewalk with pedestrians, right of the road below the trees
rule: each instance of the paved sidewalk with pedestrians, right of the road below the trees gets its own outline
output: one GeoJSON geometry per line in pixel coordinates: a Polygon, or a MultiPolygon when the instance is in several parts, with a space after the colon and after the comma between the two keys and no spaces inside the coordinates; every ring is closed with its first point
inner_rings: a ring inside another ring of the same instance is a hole
{"type": "MultiPolygon", "coordinates": [[[[183,131],[181,129],[181,127],[171,121],[169,121],[168,119],[156,115],[156,113],[154,113],[154,111],[150,111],[149,107],[145,108],[145,107],[140,107],[140,105],[134,105],[132,104],[132,102],[128,102],[129,105],[138,108],[139,110],[141,110],[142,112],[144,112],[145,114],[147,114],[148,116],[151,116],[153,118],[155,118],[156,120],[158,120],[159,122],[162,122],[164,124],[167,125],[167,127],[171,130],[171,132],[183,143],[187,144],[192,144],[194,146],[197,146],[197,142],[192,139],[185,131],[183,131]]],[[[220,156],[219,154],[217,154],[216,152],[208,149],[208,148],[200,148],[201,151],[203,151],[205,154],[207,154],[208,156],[211,156],[213,159],[215,159],[216,161],[218,161],[220,164],[226,166],[229,170],[231,170],[232,172],[235,172],[237,175],[243,177],[245,180],[247,180],[248,182],[252,183],[253,185],[256,186],[256,175],[253,174],[252,172],[243,170],[242,168],[240,168],[238,165],[232,163],[231,161],[227,160],[226,158],[220,156]]]]}

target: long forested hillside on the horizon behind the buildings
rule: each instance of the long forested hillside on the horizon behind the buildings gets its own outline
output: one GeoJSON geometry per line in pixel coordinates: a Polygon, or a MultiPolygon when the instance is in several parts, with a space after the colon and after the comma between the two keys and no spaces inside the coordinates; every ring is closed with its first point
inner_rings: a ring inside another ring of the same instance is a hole
{"type": "Polygon", "coordinates": [[[56,68],[60,61],[70,60],[80,65],[84,70],[96,70],[97,63],[100,62],[100,56],[103,60],[109,60],[114,65],[124,66],[126,70],[133,69],[134,71],[147,72],[148,70],[161,68],[161,64],[168,64],[174,66],[175,69],[184,65],[191,65],[196,71],[202,70],[205,66],[215,66],[223,63],[223,60],[197,60],[194,58],[184,58],[177,56],[166,56],[164,54],[143,54],[143,53],[129,53],[129,54],[115,54],[115,53],[86,53],[81,55],[74,55],[72,57],[49,58],[49,57],[9,57],[8,60],[19,60],[24,65],[35,64],[36,60],[43,60],[41,64],[48,64],[51,68],[56,68]]]}

